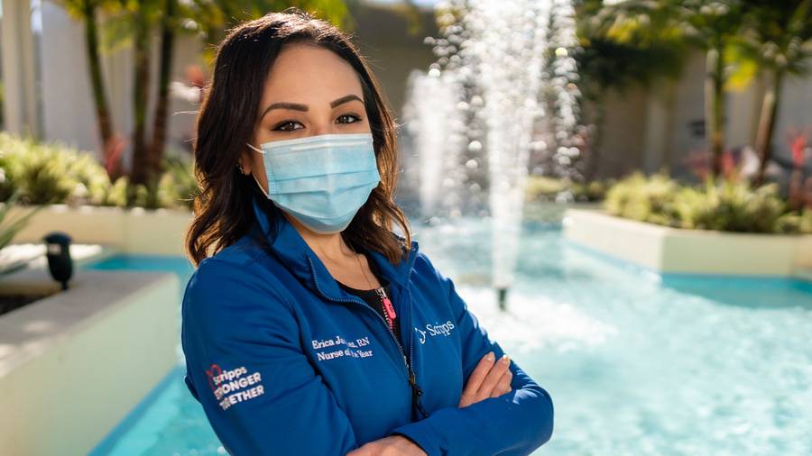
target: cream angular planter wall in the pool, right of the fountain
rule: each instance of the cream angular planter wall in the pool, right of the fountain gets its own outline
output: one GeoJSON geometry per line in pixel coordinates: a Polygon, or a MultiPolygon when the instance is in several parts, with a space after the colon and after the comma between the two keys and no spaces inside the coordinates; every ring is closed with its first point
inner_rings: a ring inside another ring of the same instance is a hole
{"type": "Polygon", "coordinates": [[[681,230],[567,209],[568,241],[661,273],[792,276],[812,268],[812,236],[681,230]]]}

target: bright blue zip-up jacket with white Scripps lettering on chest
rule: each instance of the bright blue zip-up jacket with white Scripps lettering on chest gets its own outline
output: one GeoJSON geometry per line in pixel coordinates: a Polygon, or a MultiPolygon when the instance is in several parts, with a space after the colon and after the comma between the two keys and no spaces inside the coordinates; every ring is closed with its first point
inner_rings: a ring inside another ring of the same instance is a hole
{"type": "Polygon", "coordinates": [[[510,393],[457,407],[479,360],[503,350],[418,242],[398,265],[369,254],[392,285],[401,344],[287,219],[273,236],[253,206],[273,254],[246,234],[200,261],[182,305],[186,384],[226,451],[345,455],[401,434],[430,456],[519,455],[549,440],[552,400],[513,361],[510,393]]]}

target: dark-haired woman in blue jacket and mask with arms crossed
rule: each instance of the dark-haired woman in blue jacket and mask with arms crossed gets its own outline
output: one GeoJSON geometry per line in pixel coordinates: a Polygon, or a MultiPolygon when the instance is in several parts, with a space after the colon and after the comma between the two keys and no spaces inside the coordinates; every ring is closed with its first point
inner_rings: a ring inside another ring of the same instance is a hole
{"type": "Polygon", "coordinates": [[[329,23],[289,9],[220,44],[182,343],[230,453],[528,454],[549,440],[548,393],[411,240],[395,128],[329,23]]]}

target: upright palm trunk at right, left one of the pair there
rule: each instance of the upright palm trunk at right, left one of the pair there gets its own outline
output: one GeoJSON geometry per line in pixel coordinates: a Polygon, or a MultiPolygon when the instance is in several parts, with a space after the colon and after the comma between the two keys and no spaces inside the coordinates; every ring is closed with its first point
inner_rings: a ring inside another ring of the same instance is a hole
{"type": "Polygon", "coordinates": [[[721,47],[712,47],[706,55],[705,134],[711,151],[711,176],[722,172],[724,153],[724,59],[721,47]]]}

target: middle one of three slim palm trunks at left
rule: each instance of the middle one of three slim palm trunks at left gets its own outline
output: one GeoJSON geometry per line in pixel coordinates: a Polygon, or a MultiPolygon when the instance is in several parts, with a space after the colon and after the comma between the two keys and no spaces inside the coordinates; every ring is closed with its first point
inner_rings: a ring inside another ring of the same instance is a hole
{"type": "Polygon", "coordinates": [[[133,168],[131,184],[146,184],[152,169],[146,147],[146,108],[150,87],[150,33],[143,13],[134,14],[133,52],[133,168]]]}

